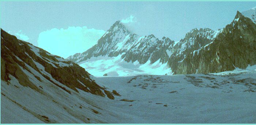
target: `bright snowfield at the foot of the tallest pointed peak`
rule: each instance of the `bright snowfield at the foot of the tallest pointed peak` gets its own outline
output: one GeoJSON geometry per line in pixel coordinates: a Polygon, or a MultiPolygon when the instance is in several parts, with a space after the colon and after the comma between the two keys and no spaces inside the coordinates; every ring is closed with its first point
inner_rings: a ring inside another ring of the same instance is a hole
{"type": "Polygon", "coordinates": [[[86,62],[80,63],[82,66],[96,77],[102,77],[103,74],[107,73],[108,76],[135,76],[142,74],[156,74],[165,75],[172,74],[172,70],[168,67],[167,63],[162,64],[160,59],[153,64],[150,64],[148,60],[145,64],[139,64],[138,61],[126,62],[121,58],[121,55],[117,57],[92,57],[86,62]]]}

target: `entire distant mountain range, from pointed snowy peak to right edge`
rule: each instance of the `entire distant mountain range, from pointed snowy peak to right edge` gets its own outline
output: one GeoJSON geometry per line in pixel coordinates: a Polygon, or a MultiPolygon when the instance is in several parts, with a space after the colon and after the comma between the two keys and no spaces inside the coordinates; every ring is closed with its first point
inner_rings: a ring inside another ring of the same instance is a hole
{"type": "Polygon", "coordinates": [[[256,64],[256,10],[242,13],[237,11],[223,29],[192,29],[180,41],[132,34],[116,21],[96,45],[67,60],[96,76],[215,73],[246,68],[256,64]]]}

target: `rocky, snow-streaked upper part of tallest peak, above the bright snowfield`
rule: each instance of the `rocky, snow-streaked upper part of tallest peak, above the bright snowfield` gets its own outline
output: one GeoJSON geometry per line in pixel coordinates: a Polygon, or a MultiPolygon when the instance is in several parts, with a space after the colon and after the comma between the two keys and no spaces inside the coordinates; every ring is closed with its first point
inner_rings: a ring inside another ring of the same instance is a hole
{"type": "Polygon", "coordinates": [[[116,21],[95,46],[67,59],[80,64],[91,57],[122,55],[121,58],[127,62],[144,64],[150,60],[152,64],[160,59],[160,62],[165,63],[172,53],[173,44],[174,41],[166,37],[159,40],[154,35],[131,34],[120,21],[116,21]]]}

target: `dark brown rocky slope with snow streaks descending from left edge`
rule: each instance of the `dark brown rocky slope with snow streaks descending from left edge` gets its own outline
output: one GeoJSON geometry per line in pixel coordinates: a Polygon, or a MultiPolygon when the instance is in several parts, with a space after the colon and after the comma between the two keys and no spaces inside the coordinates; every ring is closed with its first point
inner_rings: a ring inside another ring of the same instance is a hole
{"type": "Polygon", "coordinates": [[[76,92],[78,92],[77,89],[80,89],[99,96],[105,96],[106,94],[111,99],[114,99],[113,93],[97,85],[90,78],[90,74],[78,64],[64,60],[59,56],[51,55],[41,48],[18,40],[15,36],[1,29],[1,80],[10,82],[9,75],[12,75],[21,85],[40,92],[40,89],[29,80],[23,70],[33,74],[40,82],[42,82],[40,77],[46,78],[69,94],[71,92],[65,86],[76,92]],[[32,69],[35,71],[32,71],[32,69]],[[35,72],[40,75],[38,76],[35,72]],[[57,84],[54,80],[63,85],[57,84]]]}

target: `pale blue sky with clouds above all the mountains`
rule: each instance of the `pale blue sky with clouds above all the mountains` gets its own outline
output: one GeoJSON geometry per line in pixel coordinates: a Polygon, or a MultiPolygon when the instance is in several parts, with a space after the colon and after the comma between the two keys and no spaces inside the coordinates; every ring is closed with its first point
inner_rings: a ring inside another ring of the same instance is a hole
{"type": "Polygon", "coordinates": [[[1,28],[64,58],[82,53],[117,20],[137,35],[182,39],[193,28],[221,29],[256,2],[1,1],[1,28]]]}

